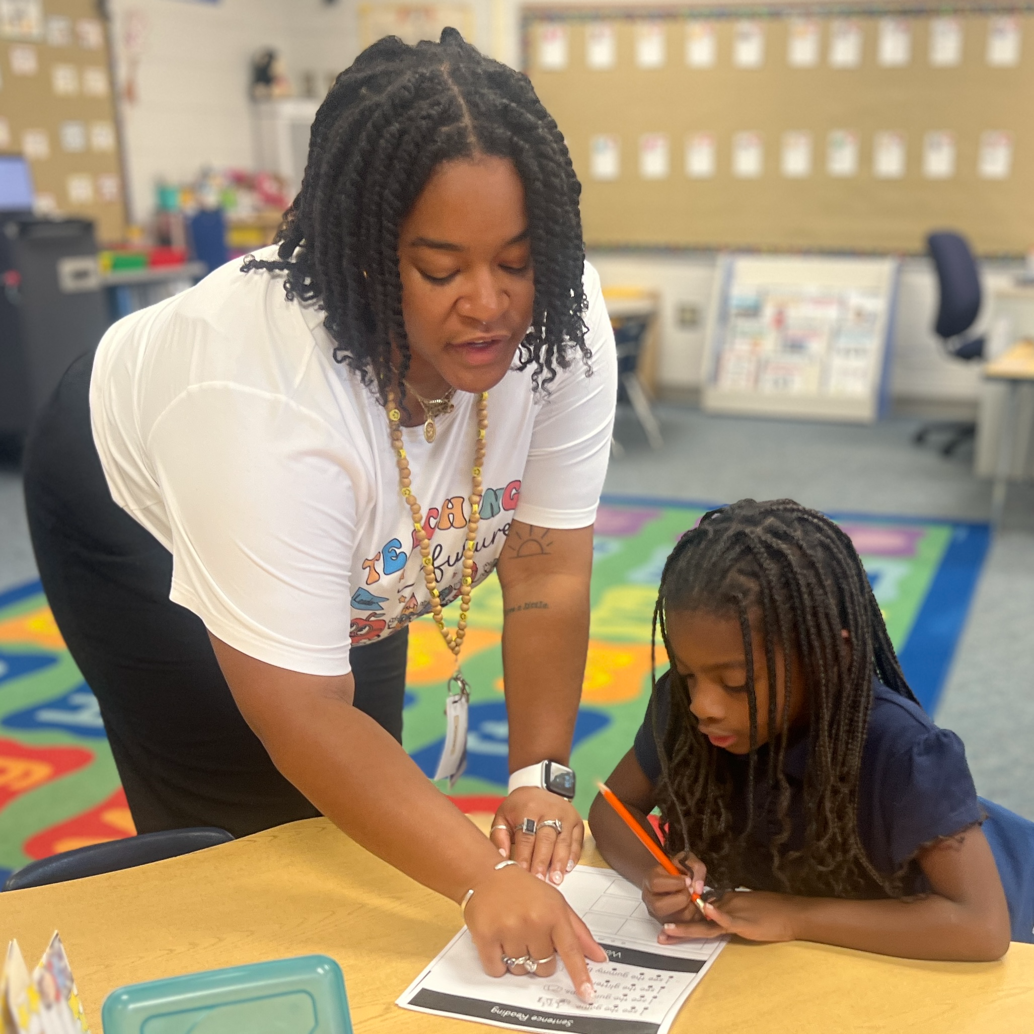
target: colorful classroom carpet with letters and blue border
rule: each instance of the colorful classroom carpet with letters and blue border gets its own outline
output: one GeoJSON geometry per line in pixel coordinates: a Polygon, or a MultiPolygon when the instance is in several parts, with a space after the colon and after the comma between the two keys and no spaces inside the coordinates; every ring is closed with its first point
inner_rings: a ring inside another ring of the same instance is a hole
{"type": "MultiPolygon", "coordinates": [[[[575,726],[576,804],[629,749],[649,695],[650,616],[665,557],[704,507],[610,499],[596,525],[592,616],[575,726]]],[[[933,712],[989,544],[983,524],[838,515],[865,564],[902,665],[933,712]]],[[[472,687],[465,811],[494,809],[507,783],[501,596],[474,595],[463,651],[472,687]]],[[[404,743],[431,774],[444,736],[451,655],[429,618],[410,627],[404,743]]],[[[0,594],[0,882],[33,858],[133,832],[97,702],[38,582],[0,594]]]]}

